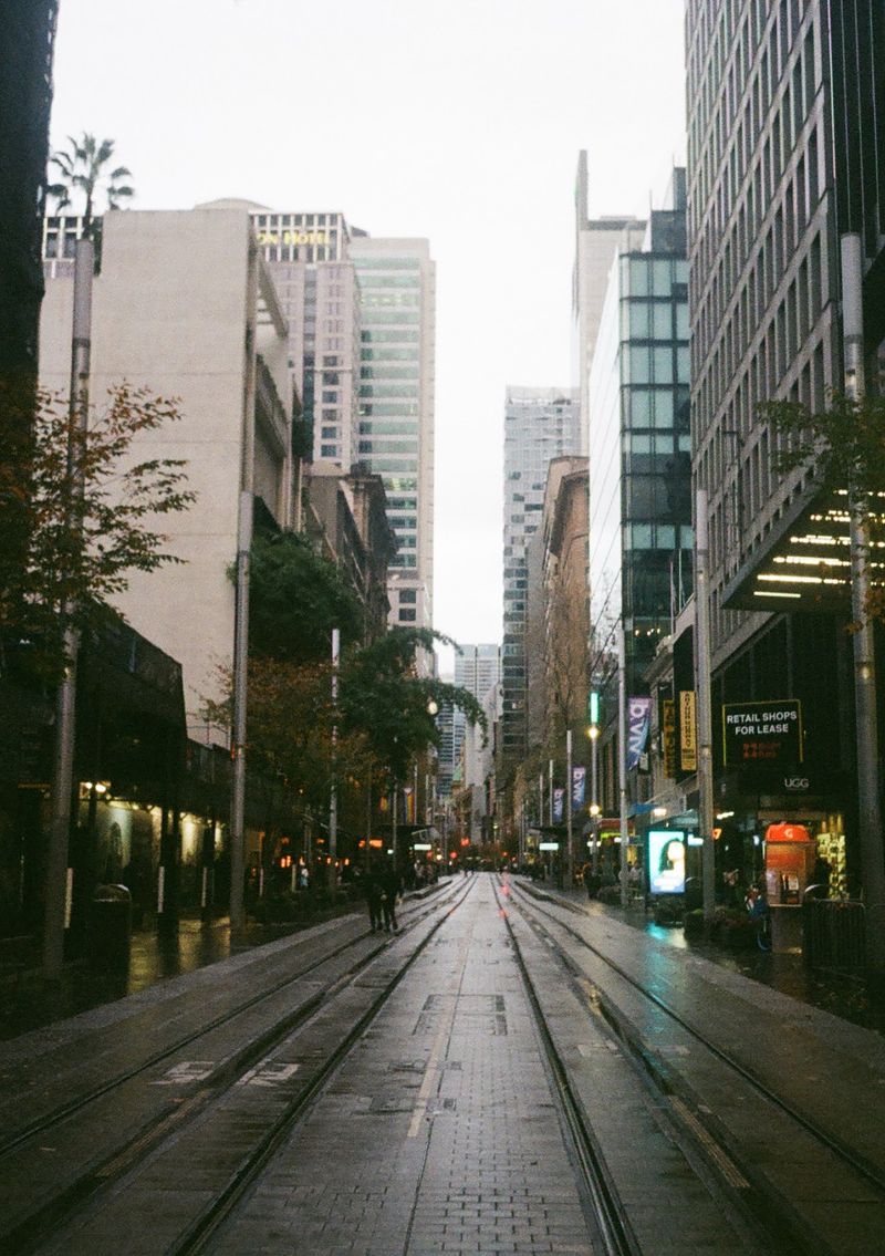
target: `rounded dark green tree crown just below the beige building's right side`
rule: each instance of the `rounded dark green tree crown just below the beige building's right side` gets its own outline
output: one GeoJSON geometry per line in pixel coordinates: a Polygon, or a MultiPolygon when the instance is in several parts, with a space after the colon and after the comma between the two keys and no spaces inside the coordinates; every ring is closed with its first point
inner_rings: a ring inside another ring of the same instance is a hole
{"type": "Polygon", "coordinates": [[[249,648],[289,663],[328,659],[331,629],[341,648],[362,639],[363,608],[334,563],[296,533],[256,534],[250,565],[249,648]]]}

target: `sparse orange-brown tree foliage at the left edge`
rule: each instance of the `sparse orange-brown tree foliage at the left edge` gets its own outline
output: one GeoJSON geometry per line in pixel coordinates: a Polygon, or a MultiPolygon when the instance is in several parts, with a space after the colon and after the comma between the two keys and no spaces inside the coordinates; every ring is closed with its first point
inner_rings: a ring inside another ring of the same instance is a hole
{"type": "Polygon", "coordinates": [[[67,398],[38,393],[33,442],[0,467],[3,491],[28,524],[21,561],[4,568],[0,644],[45,679],[64,668],[63,610],[83,631],[107,613],[131,571],[180,561],[157,522],[195,500],[185,463],[139,460],[134,448],[142,433],[178,418],[174,401],[122,383],[84,431],[67,398]]]}

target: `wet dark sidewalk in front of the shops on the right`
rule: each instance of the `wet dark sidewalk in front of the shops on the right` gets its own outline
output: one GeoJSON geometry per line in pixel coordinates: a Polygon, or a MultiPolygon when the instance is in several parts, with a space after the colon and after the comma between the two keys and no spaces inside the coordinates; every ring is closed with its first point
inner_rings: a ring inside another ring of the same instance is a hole
{"type": "Polygon", "coordinates": [[[550,898],[566,899],[584,912],[613,916],[668,946],[702,956],[722,968],[741,973],[834,1016],[841,1016],[854,1025],[885,1034],[885,1005],[867,997],[862,977],[825,972],[806,965],[802,958],[798,914],[775,921],[775,948],[771,952],[734,952],[702,941],[688,941],[682,928],[654,924],[641,903],[625,909],[596,901],[589,902],[584,889],[556,889],[550,882],[537,882],[532,888],[550,898]]]}

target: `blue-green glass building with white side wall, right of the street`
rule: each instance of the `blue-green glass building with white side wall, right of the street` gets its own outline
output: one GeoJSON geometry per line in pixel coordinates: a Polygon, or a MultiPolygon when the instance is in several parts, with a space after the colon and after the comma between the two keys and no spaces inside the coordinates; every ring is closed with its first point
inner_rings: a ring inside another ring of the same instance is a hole
{"type": "Polygon", "coordinates": [[[692,585],[684,171],[644,247],[619,250],[590,371],[591,671],[611,672],[623,622],[629,693],[692,585]]]}

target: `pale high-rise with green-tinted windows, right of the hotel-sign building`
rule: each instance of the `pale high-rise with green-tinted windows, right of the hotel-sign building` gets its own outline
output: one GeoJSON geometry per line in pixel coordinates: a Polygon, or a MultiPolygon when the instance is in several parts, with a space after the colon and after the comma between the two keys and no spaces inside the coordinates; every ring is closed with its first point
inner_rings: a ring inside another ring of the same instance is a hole
{"type": "Polygon", "coordinates": [[[358,457],[379,474],[398,553],[393,624],[433,622],[436,266],[427,240],[354,236],[359,290],[358,457]]]}

